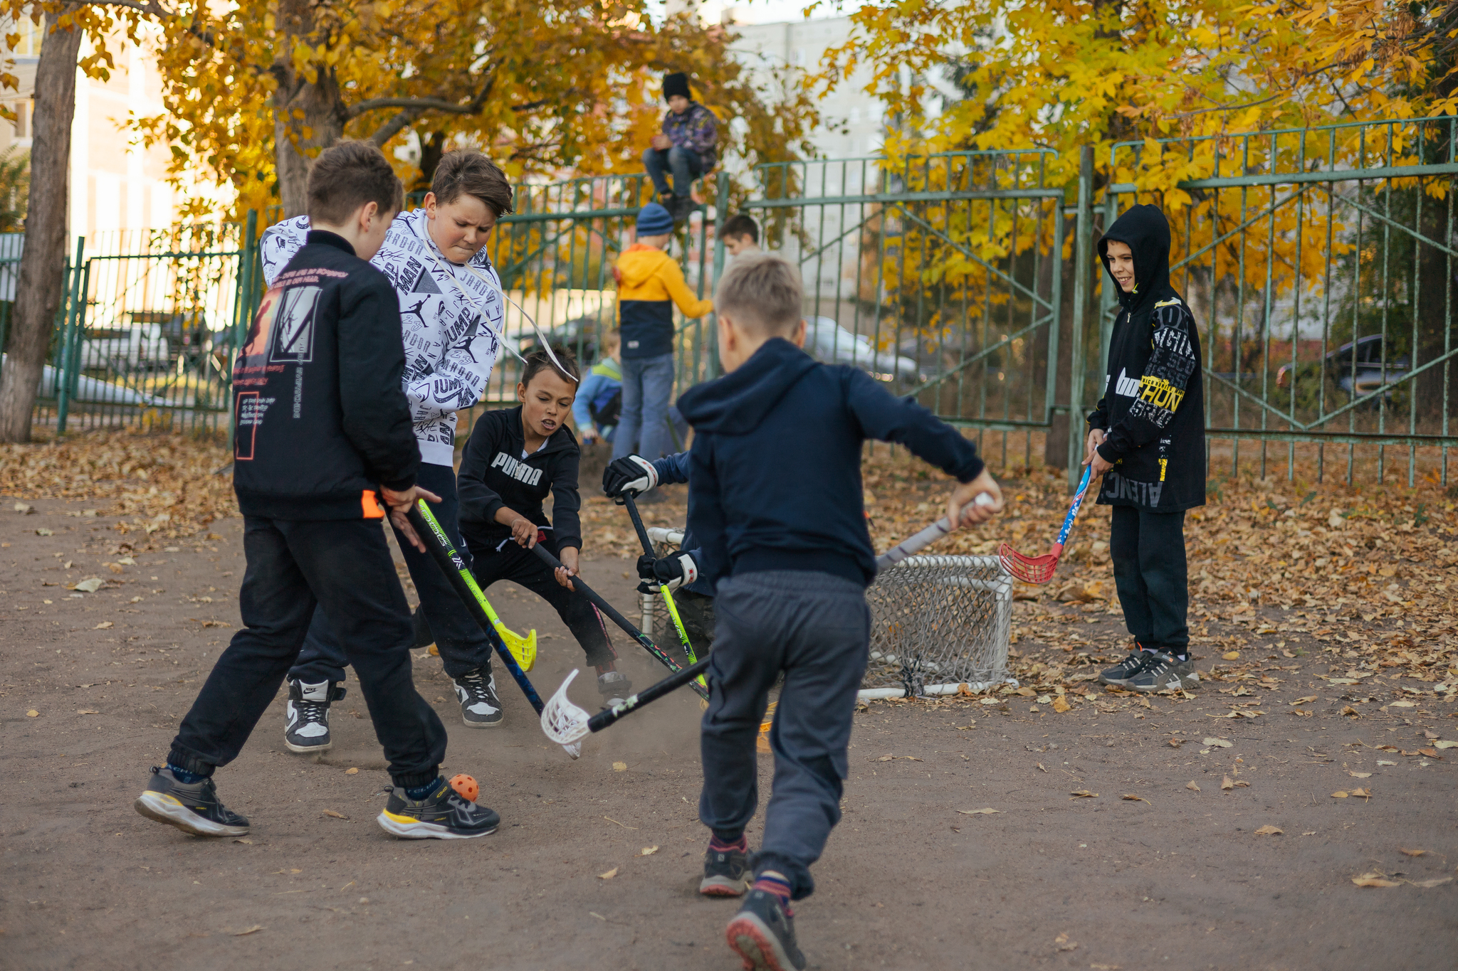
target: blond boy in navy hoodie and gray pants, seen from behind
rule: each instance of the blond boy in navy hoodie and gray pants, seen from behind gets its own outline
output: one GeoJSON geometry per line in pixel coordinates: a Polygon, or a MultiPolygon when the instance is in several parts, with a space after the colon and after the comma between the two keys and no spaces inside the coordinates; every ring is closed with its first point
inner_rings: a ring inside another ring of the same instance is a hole
{"type": "Polygon", "coordinates": [[[972,443],[849,365],[800,346],[799,271],[741,256],[719,284],[725,377],[679,397],[694,425],[688,530],[716,584],[717,627],[700,740],[698,818],[713,831],[700,892],[749,894],[729,923],[745,968],[803,968],[790,900],[808,897],[814,863],[840,821],[846,745],[870,649],[866,587],[876,575],[862,507],[866,438],[895,441],[955,476],[952,523],[983,523],[1002,491],[972,443]],[[987,492],[990,507],[972,505],[987,492]],[[774,790],[751,873],[745,825],[758,804],[755,737],[783,671],[770,728],[774,790]]]}

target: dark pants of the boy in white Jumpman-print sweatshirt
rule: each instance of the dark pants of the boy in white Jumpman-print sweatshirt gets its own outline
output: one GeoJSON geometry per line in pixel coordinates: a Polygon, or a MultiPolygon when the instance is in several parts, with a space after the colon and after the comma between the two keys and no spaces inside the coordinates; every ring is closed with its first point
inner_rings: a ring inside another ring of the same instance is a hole
{"type": "MultiPolygon", "coordinates": [[[[459,539],[461,531],[456,528],[459,504],[456,502],[455,469],[421,463],[416,483],[440,496],[440,502],[430,504],[430,512],[440,523],[446,536],[452,539],[456,550],[462,553],[465,565],[469,566],[471,555],[464,550],[464,543],[459,539]]],[[[449,677],[461,677],[477,668],[490,670],[491,642],[465,604],[461,603],[461,597],[446,575],[440,572],[440,566],[429,553],[421,553],[411,546],[399,534],[399,530],[395,530],[395,540],[405,558],[405,568],[410,571],[410,579],[416,584],[416,592],[420,595],[420,609],[416,611],[414,622],[414,643],[426,646],[434,641],[440,649],[442,667],[449,677]]],[[[309,623],[309,636],[305,638],[299,661],[289,671],[289,677],[299,678],[305,684],[343,681],[346,664],[340,636],[334,632],[325,611],[315,610],[313,620],[309,623]]]]}

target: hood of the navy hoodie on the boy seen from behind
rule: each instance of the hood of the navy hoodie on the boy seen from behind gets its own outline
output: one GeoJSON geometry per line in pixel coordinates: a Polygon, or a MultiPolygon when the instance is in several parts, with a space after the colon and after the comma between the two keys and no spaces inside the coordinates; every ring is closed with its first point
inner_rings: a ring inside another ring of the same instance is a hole
{"type": "Polygon", "coordinates": [[[697,429],[745,435],[758,428],[784,393],[814,367],[815,358],[809,354],[784,338],[771,338],[738,370],[684,392],[678,411],[697,429]]]}

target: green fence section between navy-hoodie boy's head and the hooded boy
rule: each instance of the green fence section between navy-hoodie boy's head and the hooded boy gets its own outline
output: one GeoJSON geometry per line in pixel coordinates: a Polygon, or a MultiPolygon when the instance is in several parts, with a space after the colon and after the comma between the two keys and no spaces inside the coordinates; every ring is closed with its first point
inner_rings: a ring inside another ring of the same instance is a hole
{"type": "MultiPolygon", "coordinates": [[[[767,249],[805,278],[806,349],[856,364],[946,421],[1022,432],[1051,427],[1063,284],[1056,153],[958,151],[755,170],[744,204],[767,249]]],[[[1016,457],[1016,444],[1013,457],[1016,457]]]]}

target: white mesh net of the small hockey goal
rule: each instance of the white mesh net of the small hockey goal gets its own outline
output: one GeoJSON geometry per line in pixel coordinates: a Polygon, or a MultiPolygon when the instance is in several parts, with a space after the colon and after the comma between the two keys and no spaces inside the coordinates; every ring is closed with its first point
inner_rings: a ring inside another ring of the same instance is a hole
{"type": "MultiPolygon", "coordinates": [[[[656,537],[655,537],[656,539],[656,537]]],[[[653,544],[656,556],[678,549],[653,544]]],[[[1012,578],[996,556],[911,556],[882,571],[866,590],[870,664],[862,689],[927,686],[984,690],[1010,680],[1012,578]]],[[[642,629],[656,642],[677,641],[659,594],[642,594],[642,629]]]]}

